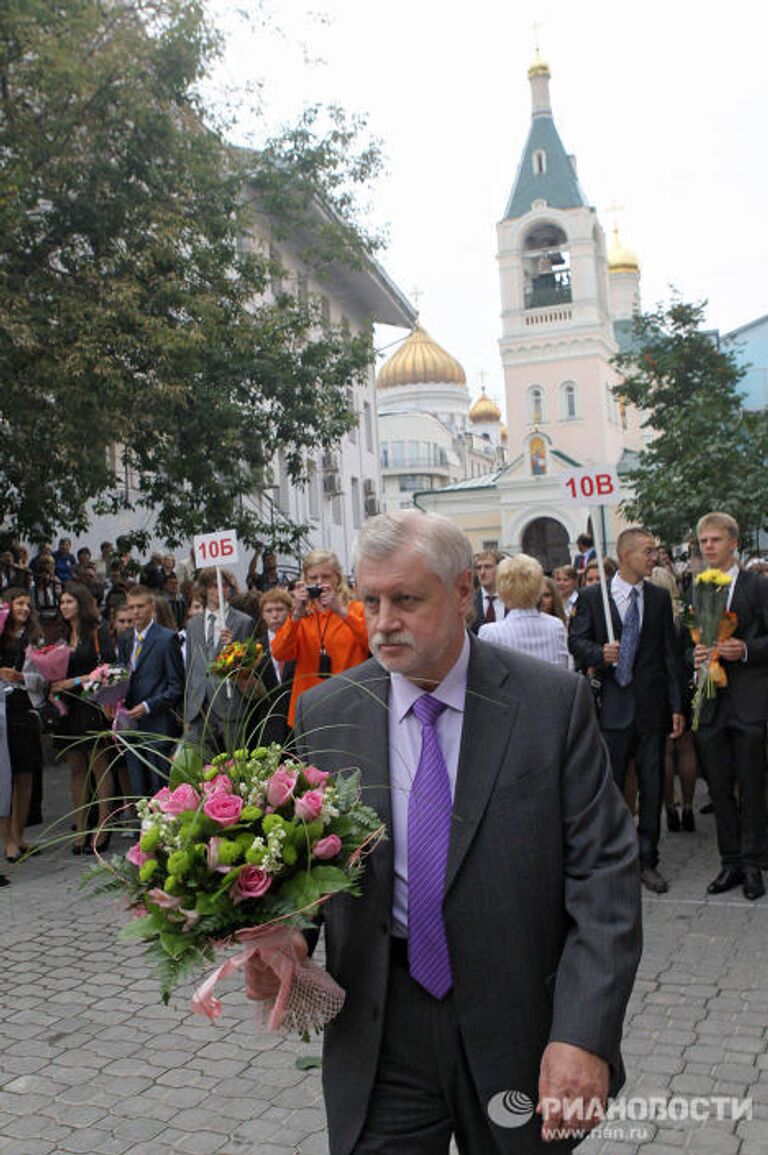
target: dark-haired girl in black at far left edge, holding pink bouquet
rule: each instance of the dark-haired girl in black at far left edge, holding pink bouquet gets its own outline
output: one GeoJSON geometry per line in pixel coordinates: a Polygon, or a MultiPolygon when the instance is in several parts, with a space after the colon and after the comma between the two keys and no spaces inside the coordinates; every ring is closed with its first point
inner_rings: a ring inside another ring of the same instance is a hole
{"type": "Polygon", "coordinates": [[[16,862],[29,845],[24,826],[32,791],[32,776],[42,773],[43,752],[39,729],[30,714],[42,700],[45,681],[25,662],[27,647],[39,646],[42,629],[27,590],[9,587],[2,599],[10,606],[0,634],[0,693],[5,696],[8,754],[12,773],[10,817],[0,818],[0,837],[6,859],[16,862]]]}

